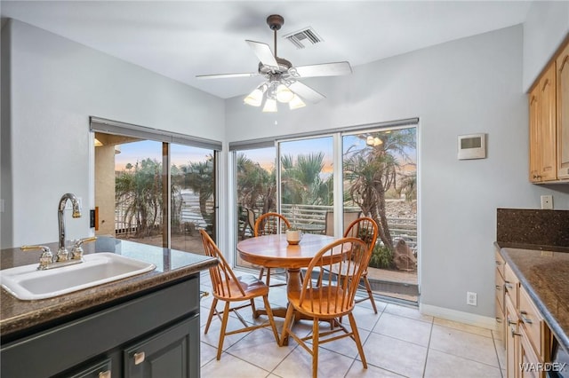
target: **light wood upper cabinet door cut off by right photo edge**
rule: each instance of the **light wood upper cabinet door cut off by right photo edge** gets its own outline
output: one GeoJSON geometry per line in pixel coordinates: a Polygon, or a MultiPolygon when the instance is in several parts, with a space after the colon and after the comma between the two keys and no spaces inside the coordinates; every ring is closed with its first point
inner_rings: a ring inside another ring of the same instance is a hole
{"type": "Polygon", "coordinates": [[[569,179],[569,43],[557,56],[557,177],[569,179]]]}

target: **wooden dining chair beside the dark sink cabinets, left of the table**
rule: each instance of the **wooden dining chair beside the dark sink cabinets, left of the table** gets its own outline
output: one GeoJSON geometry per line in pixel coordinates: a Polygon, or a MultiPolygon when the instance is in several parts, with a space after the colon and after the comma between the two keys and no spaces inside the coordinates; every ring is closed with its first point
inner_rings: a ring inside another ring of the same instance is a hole
{"type": "Polygon", "coordinates": [[[221,352],[223,351],[223,341],[227,335],[249,332],[260,327],[271,327],[273,330],[273,335],[275,335],[276,343],[279,343],[278,333],[276,332],[275,319],[273,319],[273,312],[268,303],[268,286],[251,274],[242,274],[236,276],[236,274],[231,270],[228,262],[221,254],[220,249],[215,245],[215,242],[212,240],[210,235],[208,235],[204,230],[200,230],[199,232],[201,233],[202,242],[204,243],[205,255],[215,257],[219,262],[219,264],[210,268],[213,302],[204,330],[204,334],[207,334],[214,314],[221,319],[220,342],[218,343],[217,347],[217,359],[221,358],[221,352]],[[251,306],[253,316],[255,316],[256,309],[254,298],[260,296],[262,296],[263,302],[265,303],[268,321],[263,324],[250,326],[245,322],[245,320],[241,317],[241,315],[239,315],[236,310],[251,306]],[[225,307],[221,313],[217,311],[218,301],[225,302],[225,307]],[[244,301],[248,301],[249,303],[231,307],[230,303],[244,301]],[[241,320],[243,323],[243,328],[227,332],[229,312],[236,314],[237,319],[241,320]]]}

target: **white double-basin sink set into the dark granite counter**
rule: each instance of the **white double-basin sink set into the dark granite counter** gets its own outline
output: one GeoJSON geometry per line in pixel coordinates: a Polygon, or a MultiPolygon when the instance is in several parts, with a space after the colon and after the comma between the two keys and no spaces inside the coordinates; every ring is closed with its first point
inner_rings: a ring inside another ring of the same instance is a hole
{"type": "Polygon", "coordinates": [[[150,272],[155,264],[114,253],[84,255],[84,263],[38,271],[37,264],[0,271],[0,283],[22,300],[52,298],[150,272]]]}

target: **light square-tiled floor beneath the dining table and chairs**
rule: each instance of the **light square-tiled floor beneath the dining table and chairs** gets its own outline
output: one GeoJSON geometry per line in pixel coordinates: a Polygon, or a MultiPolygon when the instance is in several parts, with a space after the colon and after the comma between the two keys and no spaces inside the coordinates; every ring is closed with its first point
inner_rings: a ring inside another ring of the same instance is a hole
{"type": "MultiPolygon", "coordinates": [[[[209,274],[202,274],[202,290],[212,292],[209,274]]],[[[276,306],[286,303],[286,288],[271,287],[269,301],[276,306]]],[[[212,295],[201,302],[201,376],[203,378],[288,378],[310,377],[311,358],[293,339],[279,347],[269,328],[226,337],[220,361],[216,360],[220,319],[212,320],[207,335],[205,321],[212,295]]],[[[376,301],[374,314],[369,301],[358,303],[354,315],[364,343],[368,368],[357,355],[356,344],[349,338],[320,347],[318,376],[333,377],[476,377],[505,376],[505,353],[499,335],[485,328],[472,327],[445,319],[421,315],[414,307],[376,301]]],[[[260,307],[262,307],[260,302],[260,307]]],[[[220,307],[218,307],[220,308],[220,307]]],[[[251,308],[239,313],[248,322],[251,308]]],[[[266,317],[260,317],[260,321],[266,317]]],[[[241,327],[234,316],[228,329],[241,327]]],[[[279,335],[283,319],[276,318],[279,335]]],[[[294,325],[297,333],[309,335],[311,324],[294,325]]]]}

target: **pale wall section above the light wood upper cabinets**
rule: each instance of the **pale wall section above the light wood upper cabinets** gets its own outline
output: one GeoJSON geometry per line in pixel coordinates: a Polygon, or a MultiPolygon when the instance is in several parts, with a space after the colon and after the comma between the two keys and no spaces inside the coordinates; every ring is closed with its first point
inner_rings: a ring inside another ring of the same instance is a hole
{"type": "Polygon", "coordinates": [[[533,1],[524,22],[524,91],[527,92],[569,33],[569,2],[533,1]]]}

